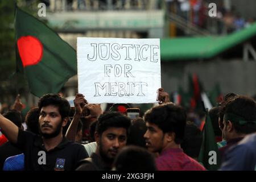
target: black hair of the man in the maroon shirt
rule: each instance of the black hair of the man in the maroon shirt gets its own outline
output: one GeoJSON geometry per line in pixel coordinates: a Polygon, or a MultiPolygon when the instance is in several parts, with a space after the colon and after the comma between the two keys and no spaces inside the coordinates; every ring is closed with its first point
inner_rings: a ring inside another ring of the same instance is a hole
{"type": "Polygon", "coordinates": [[[186,117],[183,107],[163,104],[147,110],[144,114],[144,121],[154,123],[163,133],[174,132],[175,143],[180,144],[184,137],[186,117]]]}

